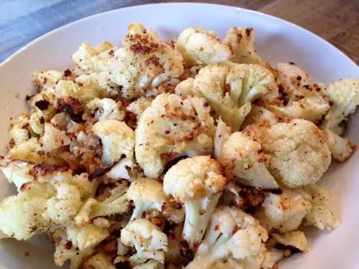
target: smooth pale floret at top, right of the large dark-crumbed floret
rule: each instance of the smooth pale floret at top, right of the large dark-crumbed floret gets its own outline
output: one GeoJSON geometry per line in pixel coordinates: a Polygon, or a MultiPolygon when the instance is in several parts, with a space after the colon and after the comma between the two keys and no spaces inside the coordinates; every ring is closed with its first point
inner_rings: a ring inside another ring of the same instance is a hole
{"type": "Polygon", "coordinates": [[[179,34],[176,47],[185,59],[186,65],[197,61],[205,65],[217,64],[231,57],[230,48],[216,38],[214,32],[189,27],[179,34]]]}

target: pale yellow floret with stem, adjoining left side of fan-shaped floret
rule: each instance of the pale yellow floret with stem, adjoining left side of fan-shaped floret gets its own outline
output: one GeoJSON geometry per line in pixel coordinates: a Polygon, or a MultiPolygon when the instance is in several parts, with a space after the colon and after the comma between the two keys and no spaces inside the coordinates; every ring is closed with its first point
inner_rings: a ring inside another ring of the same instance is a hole
{"type": "Polygon", "coordinates": [[[210,106],[211,115],[215,119],[222,116],[226,124],[239,130],[244,118],[251,109],[251,104],[246,102],[240,104],[238,96],[241,96],[242,87],[240,84],[231,84],[229,92],[226,92],[226,78],[230,77],[230,72],[226,66],[210,65],[202,68],[195,78],[188,78],[179,83],[175,88],[175,93],[187,97],[196,95],[207,100],[210,106]]]}

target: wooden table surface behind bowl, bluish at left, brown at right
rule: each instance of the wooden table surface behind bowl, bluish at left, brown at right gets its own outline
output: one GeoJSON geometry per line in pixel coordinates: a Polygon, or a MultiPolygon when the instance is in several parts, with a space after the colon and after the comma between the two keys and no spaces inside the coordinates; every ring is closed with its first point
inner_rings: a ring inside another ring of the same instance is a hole
{"type": "MultiPolygon", "coordinates": [[[[2,0],[0,62],[31,40],[74,20],[147,0],[2,0]]],[[[184,1],[203,2],[203,1],[184,1]]],[[[258,10],[300,25],[327,39],[359,64],[357,0],[215,0],[209,3],[258,10]]]]}

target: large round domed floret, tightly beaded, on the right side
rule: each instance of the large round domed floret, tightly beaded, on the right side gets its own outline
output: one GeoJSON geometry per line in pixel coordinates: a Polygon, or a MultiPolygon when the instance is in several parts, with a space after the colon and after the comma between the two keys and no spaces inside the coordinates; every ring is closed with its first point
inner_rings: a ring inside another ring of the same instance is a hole
{"type": "Polygon", "coordinates": [[[271,126],[262,136],[262,149],[270,173],[289,188],[315,183],[331,161],[323,132],[304,119],[271,126]]]}

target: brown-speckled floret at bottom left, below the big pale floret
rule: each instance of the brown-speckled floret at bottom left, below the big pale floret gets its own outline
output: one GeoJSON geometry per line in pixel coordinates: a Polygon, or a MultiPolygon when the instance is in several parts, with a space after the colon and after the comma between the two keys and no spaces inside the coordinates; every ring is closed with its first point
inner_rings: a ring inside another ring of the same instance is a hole
{"type": "Polygon", "coordinates": [[[95,246],[110,235],[106,228],[87,224],[83,227],[69,225],[55,231],[53,238],[56,251],[55,263],[64,265],[66,260],[71,261],[70,269],[77,269],[94,252],[95,246]],[[70,243],[69,243],[70,242],[70,243]]]}

